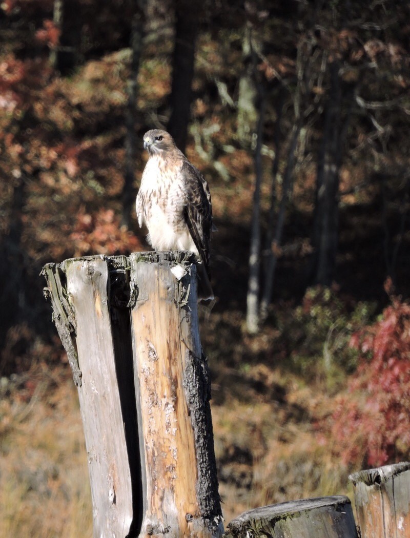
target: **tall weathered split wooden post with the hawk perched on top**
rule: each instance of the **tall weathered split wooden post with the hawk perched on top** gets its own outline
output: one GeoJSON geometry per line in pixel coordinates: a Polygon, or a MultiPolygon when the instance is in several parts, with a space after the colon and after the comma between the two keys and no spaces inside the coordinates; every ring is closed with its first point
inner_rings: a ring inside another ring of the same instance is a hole
{"type": "Polygon", "coordinates": [[[222,536],[193,255],[90,256],[43,274],[79,392],[94,537],[222,536]]]}

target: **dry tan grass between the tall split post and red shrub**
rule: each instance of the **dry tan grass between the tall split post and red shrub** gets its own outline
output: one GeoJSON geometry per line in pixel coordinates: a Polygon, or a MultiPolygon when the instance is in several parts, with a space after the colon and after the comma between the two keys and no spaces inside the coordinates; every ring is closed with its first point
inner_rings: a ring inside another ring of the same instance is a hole
{"type": "MultiPolygon", "coordinates": [[[[279,370],[266,374],[280,382],[279,370]]],[[[245,510],[288,500],[335,494],[353,500],[348,470],[335,460],[314,426],[329,408],[326,394],[307,387],[288,387],[281,401],[244,401],[228,395],[223,405],[214,405],[225,521],[245,510]]]]}

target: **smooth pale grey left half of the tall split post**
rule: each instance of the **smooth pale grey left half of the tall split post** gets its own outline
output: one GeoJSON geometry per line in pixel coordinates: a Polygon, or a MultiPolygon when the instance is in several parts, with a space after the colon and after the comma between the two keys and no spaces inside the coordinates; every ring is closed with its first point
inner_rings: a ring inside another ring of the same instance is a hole
{"type": "Polygon", "coordinates": [[[94,537],[125,536],[133,519],[132,490],[111,332],[108,264],[101,258],[67,260],[64,268],[77,325],[94,537]]]}

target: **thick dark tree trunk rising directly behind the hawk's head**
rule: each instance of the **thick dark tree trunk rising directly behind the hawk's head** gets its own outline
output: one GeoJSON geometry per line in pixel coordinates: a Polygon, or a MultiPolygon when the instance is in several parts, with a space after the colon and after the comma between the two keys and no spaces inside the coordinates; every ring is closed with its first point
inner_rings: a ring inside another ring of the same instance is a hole
{"type": "Polygon", "coordinates": [[[172,87],[169,95],[171,116],[167,129],[183,152],[187,143],[192,101],[197,17],[197,9],[193,9],[191,2],[175,0],[175,45],[172,61],[172,87]]]}

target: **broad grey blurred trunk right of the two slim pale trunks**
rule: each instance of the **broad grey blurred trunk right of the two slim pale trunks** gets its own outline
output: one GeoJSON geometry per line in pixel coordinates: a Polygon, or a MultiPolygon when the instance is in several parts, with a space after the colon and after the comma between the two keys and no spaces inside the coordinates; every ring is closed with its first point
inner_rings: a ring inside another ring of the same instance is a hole
{"type": "Polygon", "coordinates": [[[338,61],[330,63],[329,98],[316,172],[312,275],[315,284],[324,286],[329,286],[334,277],[338,243],[339,175],[344,143],[339,70],[338,61]]]}

